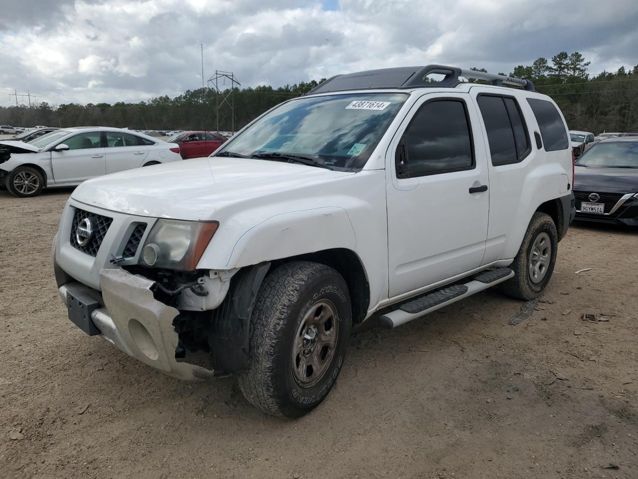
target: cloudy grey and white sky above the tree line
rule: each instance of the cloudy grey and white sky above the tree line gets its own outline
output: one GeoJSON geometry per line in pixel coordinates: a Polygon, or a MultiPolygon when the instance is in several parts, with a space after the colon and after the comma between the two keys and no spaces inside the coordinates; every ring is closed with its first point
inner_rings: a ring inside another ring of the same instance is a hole
{"type": "Polygon", "coordinates": [[[638,64],[637,0],[2,0],[0,105],[179,95],[215,69],[243,86],[444,63],[511,72],[580,51],[638,64]],[[26,98],[24,98],[26,100],[26,98]]]}

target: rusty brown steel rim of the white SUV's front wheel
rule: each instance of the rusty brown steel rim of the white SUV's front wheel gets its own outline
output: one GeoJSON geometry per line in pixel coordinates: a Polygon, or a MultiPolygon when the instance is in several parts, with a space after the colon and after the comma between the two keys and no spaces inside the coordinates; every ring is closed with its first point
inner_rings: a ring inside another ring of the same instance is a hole
{"type": "Polygon", "coordinates": [[[292,347],[292,374],[302,388],[314,386],[330,366],[339,337],[339,317],[329,300],[308,308],[292,347]]]}

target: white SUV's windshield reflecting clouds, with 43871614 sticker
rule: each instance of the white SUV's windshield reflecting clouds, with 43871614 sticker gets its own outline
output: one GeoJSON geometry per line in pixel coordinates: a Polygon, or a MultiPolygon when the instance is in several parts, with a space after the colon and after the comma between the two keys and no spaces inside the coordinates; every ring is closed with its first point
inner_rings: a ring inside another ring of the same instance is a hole
{"type": "Polygon", "coordinates": [[[361,169],[406,98],[406,93],[354,93],[292,100],[230,139],[215,156],[281,160],[269,155],[277,153],[331,169],[361,169]]]}

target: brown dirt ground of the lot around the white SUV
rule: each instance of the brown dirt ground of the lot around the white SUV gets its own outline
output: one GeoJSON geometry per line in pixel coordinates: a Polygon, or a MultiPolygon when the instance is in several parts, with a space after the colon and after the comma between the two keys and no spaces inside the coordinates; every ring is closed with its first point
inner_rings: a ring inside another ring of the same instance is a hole
{"type": "Polygon", "coordinates": [[[69,194],[0,192],[3,479],[638,477],[638,231],[572,227],[517,326],[522,303],[487,291],[360,333],[328,399],[290,421],[70,323],[50,263],[69,194]]]}

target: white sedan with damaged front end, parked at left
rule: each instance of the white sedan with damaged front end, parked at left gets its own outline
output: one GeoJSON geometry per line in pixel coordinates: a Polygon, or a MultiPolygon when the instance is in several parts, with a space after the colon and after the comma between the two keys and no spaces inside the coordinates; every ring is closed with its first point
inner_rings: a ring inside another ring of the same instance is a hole
{"type": "Polygon", "coordinates": [[[104,126],[64,128],[30,143],[0,141],[0,185],[18,197],[103,174],[182,160],[179,146],[104,126]]]}

